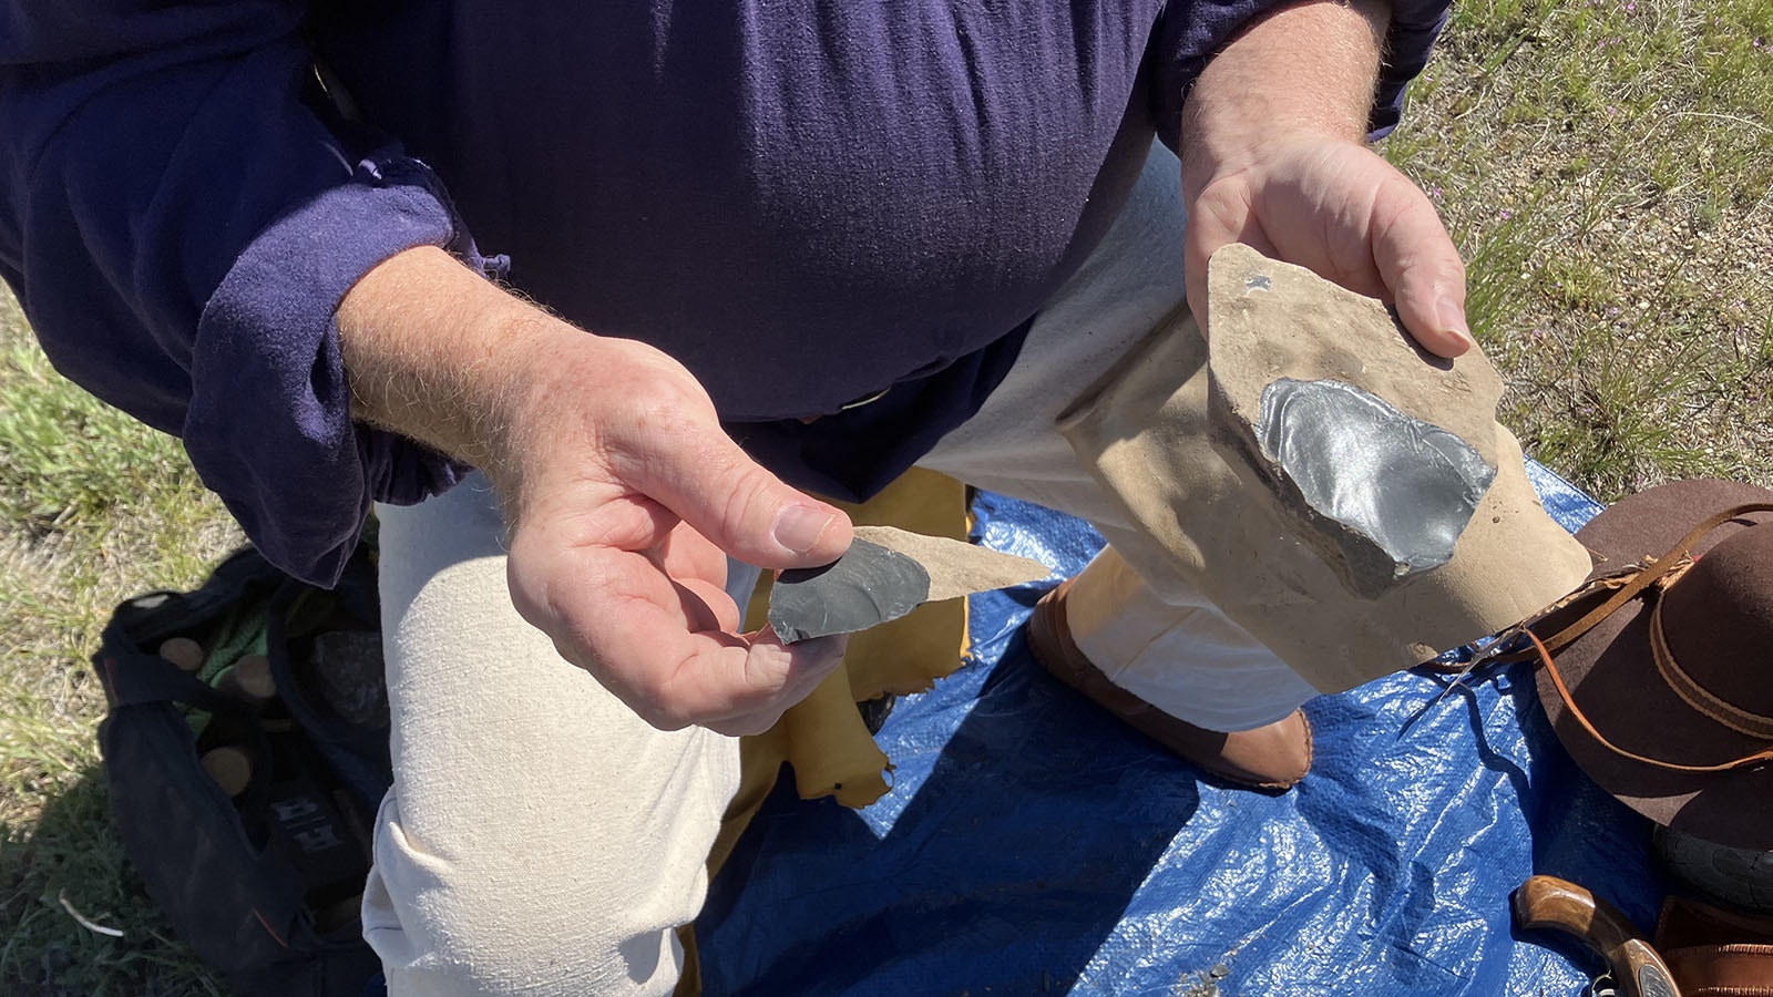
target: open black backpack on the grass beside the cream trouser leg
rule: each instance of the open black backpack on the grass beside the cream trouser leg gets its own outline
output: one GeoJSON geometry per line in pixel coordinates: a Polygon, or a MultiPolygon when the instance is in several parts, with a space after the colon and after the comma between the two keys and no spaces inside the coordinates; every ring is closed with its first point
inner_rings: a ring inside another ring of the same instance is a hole
{"type": "Polygon", "coordinates": [[[374,992],[356,907],[392,775],[372,546],[330,591],[239,550],[197,591],[119,605],[92,663],[117,832],[179,937],[241,993],[374,992]]]}

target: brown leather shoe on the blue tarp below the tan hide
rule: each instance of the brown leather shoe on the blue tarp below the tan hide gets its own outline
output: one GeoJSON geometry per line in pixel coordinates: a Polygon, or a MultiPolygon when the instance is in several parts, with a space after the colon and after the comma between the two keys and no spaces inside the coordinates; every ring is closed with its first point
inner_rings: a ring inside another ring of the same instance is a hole
{"type": "Polygon", "coordinates": [[[1170,717],[1151,703],[1108,681],[1076,642],[1066,623],[1067,578],[1046,593],[1028,617],[1028,649],[1058,681],[1082,692],[1133,729],[1170,749],[1184,761],[1241,786],[1280,793],[1312,768],[1312,726],[1303,710],[1254,731],[1225,734],[1170,717]]]}

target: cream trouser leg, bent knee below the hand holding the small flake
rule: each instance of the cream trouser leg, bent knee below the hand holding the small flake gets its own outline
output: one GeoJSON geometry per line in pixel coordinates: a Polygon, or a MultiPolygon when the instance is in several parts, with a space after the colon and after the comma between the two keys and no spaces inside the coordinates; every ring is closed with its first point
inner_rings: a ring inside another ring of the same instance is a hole
{"type": "Polygon", "coordinates": [[[395,781],[363,926],[390,993],[670,993],[738,742],[656,731],[555,655],[482,479],[378,513],[395,781]]]}

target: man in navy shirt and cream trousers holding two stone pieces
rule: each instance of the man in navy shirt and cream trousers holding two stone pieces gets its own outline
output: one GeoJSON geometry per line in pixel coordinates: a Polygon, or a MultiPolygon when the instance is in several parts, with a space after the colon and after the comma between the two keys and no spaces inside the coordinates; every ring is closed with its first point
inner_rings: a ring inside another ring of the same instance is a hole
{"type": "MultiPolygon", "coordinates": [[[[1470,346],[1433,206],[1362,145],[1443,7],[11,0],[0,271],[293,573],[390,502],[390,992],[661,993],[730,736],[842,653],[736,633],[729,555],[849,543],[784,477],[924,463],[1136,545],[1051,415],[1174,319],[1184,239],[1195,303],[1238,239],[1470,346]]],[[[1172,747],[1303,775],[1310,687],[1121,553],[1046,610],[1066,653],[1136,685],[1124,635],[1179,637],[1172,747]]]]}

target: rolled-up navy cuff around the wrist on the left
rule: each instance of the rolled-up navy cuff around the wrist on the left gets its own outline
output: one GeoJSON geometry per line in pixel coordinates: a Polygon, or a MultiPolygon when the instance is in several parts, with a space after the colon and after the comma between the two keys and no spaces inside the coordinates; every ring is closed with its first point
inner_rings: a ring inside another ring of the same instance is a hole
{"type": "Polygon", "coordinates": [[[371,502],[411,504],[466,474],[420,444],[355,424],[335,312],[381,261],[422,245],[500,275],[417,160],[367,158],[351,183],[284,215],[204,307],[184,447],[273,564],[332,585],[371,502]]]}

